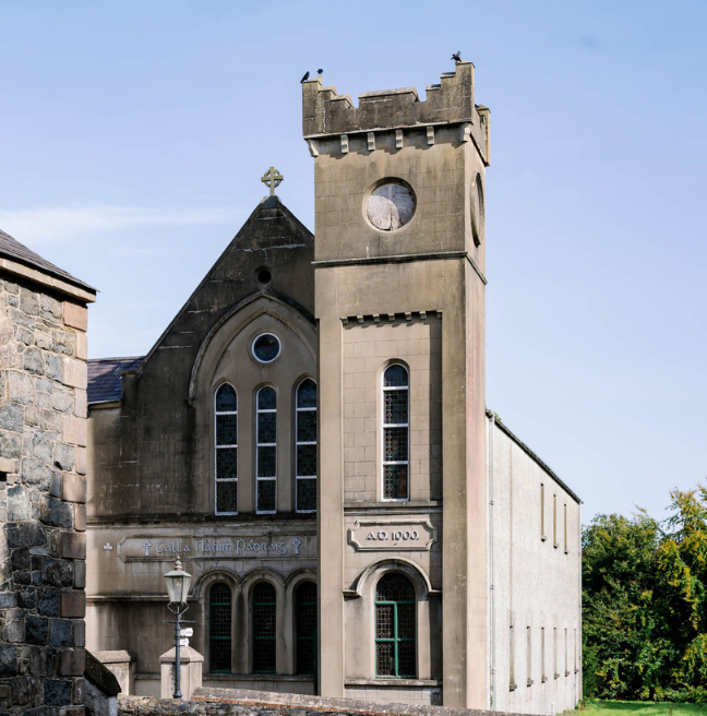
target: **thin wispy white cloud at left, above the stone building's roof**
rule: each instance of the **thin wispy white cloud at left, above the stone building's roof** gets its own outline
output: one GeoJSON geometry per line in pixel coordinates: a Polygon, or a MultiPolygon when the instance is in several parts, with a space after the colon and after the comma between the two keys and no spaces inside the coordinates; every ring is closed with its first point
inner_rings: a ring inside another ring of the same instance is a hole
{"type": "Polygon", "coordinates": [[[131,206],[44,206],[24,210],[0,208],[0,228],[22,243],[48,246],[81,241],[104,231],[141,226],[238,225],[243,218],[237,208],[143,208],[131,206]]]}

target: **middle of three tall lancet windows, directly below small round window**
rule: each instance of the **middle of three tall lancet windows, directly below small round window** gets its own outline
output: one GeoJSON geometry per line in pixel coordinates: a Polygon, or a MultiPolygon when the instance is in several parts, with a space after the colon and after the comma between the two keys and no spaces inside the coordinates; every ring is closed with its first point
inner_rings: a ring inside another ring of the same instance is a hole
{"type": "Polygon", "coordinates": [[[274,514],[277,506],[277,393],[266,385],[257,391],[255,428],[256,512],[274,514]]]}

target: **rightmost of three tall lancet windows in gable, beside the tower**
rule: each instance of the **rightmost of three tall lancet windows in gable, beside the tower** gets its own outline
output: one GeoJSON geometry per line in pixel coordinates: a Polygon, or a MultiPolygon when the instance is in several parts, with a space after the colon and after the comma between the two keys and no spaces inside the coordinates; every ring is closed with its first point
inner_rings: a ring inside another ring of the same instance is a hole
{"type": "Polygon", "coordinates": [[[316,511],[316,383],[307,378],[297,389],[297,512],[316,511]]]}

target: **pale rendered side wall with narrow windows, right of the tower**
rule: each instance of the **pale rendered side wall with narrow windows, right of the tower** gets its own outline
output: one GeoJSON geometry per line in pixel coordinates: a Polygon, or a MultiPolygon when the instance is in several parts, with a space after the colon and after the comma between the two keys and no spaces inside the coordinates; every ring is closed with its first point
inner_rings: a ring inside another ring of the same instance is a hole
{"type": "Polygon", "coordinates": [[[582,699],[582,511],[489,421],[489,581],[495,711],[556,714],[582,699]]]}

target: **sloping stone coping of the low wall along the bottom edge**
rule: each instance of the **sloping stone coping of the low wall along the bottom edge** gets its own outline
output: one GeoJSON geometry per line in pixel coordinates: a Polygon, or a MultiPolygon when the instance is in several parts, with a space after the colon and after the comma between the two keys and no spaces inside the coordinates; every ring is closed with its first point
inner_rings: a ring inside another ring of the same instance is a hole
{"type": "MultiPolygon", "coordinates": [[[[384,683],[381,683],[385,688],[384,683]]],[[[395,685],[395,684],[393,684],[395,685]]],[[[272,691],[250,691],[247,689],[194,689],[195,702],[239,704],[264,708],[285,708],[343,714],[367,714],[368,716],[520,716],[507,712],[489,712],[481,708],[450,708],[447,706],[424,706],[416,704],[381,703],[358,699],[331,699],[303,694],[277,693],[272,691]]]]}

